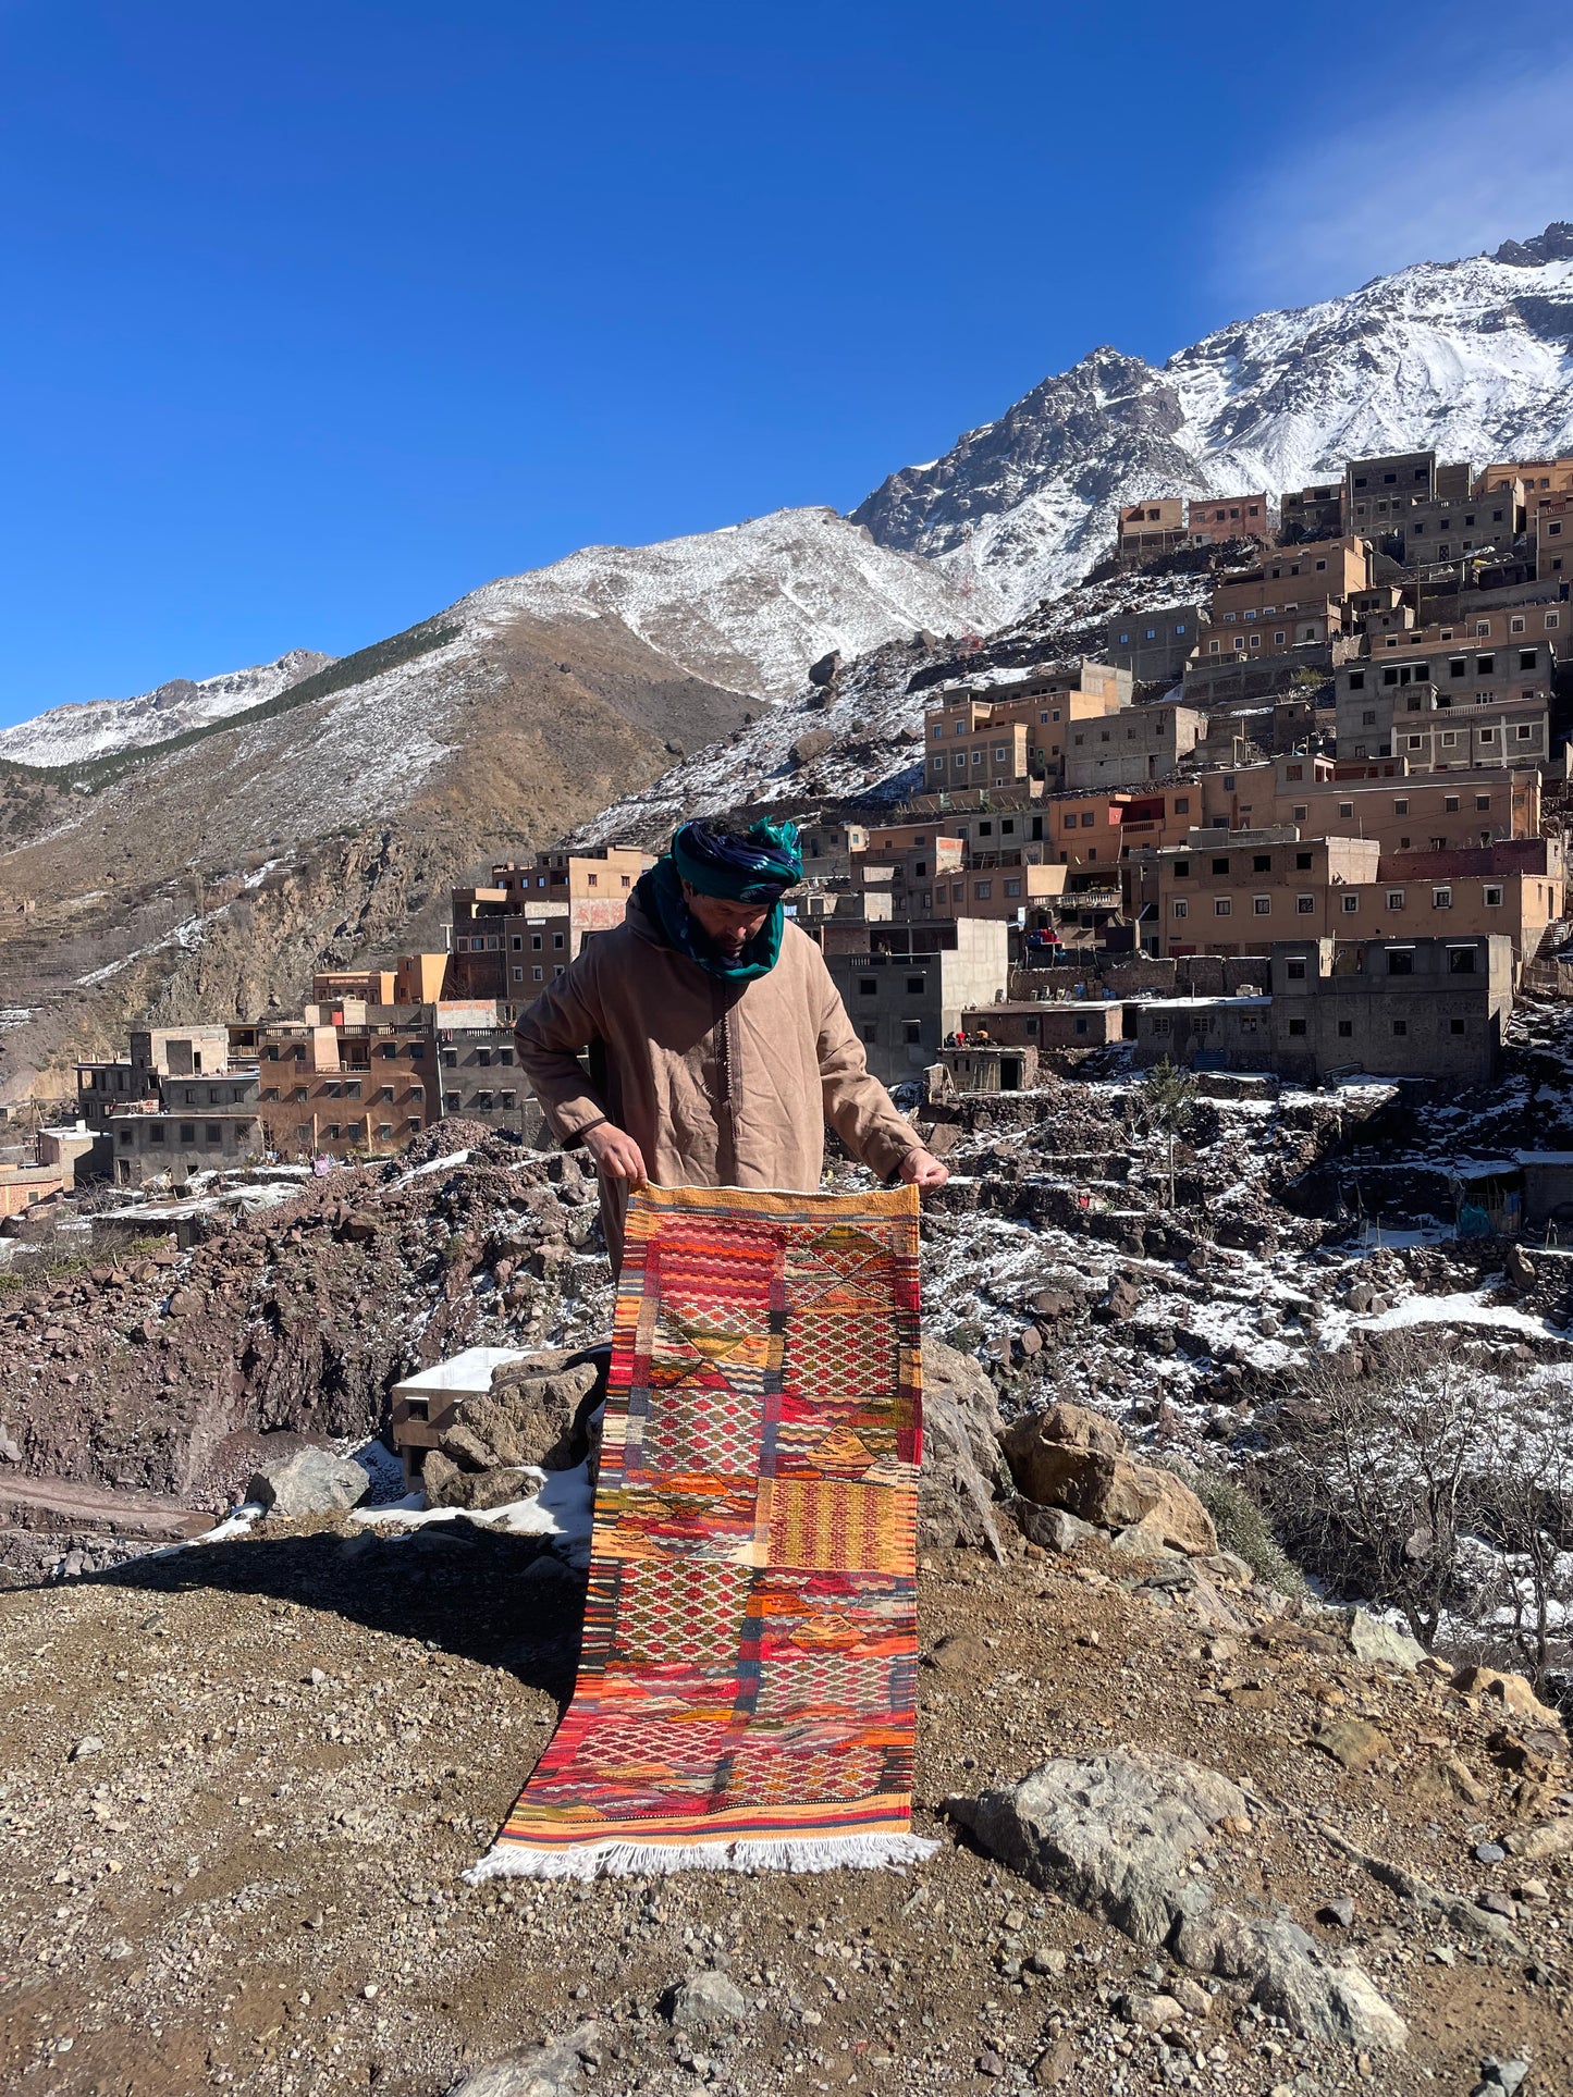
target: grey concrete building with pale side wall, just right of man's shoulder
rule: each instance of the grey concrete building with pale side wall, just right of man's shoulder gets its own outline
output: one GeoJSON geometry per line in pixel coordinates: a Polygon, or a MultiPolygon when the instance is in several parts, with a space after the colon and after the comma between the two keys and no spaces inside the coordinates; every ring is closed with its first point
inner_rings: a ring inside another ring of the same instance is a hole
{"type": "Polygon", "coordinates": [[[963,1011],[992,1004],[1009,981],[1009,933],[996,918],[963,916],[904,931],[906,952],[879,950],[868,931],[862,952],[835,952],[828,942],[824,952],[868,1069],[885,1084],[919,1078],[946,1034],[961,1025],[963,1011]]]}

